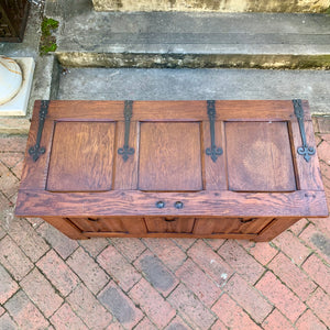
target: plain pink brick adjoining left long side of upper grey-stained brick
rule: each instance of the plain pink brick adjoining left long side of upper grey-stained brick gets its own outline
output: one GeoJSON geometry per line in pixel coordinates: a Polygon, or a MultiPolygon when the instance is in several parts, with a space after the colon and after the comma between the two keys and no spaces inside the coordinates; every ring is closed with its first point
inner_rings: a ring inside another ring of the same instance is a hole
{"type": "Polygon", "coordinates": [[[141,274],[136,272],[114,246],[108,246],[99,254],[97,260],[101,267],[103,267],[125,292],[141,278],[141,274]]]}

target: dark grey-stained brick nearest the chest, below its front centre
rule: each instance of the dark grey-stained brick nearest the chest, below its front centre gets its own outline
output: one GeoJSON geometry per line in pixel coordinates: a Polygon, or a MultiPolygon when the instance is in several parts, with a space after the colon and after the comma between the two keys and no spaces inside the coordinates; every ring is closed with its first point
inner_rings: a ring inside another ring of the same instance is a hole
{"type": "Polygon", "coordinates": [[[161,292],[164,297],[168,296],[178,285],[178,279],[150,250],[140,255],[134,262],[134,266],[144,274],[151,285],[161,292]]]}

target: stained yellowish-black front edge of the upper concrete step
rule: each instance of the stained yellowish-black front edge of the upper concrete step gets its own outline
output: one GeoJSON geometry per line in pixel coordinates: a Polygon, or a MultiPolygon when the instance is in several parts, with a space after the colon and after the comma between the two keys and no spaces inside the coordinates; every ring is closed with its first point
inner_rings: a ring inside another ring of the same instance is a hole
{"type": "Polygon", "coordinates": [[[56,52],[64,67],[330,69],[330,54],[56,52]]]}

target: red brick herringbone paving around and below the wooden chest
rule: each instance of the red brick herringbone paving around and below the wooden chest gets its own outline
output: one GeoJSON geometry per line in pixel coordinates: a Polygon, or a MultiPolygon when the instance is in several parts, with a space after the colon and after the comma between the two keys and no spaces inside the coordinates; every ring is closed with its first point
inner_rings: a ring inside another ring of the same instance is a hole
{"type": "MultiPolygon", "coordinates": [[[[315,124],[330,197],[330,125],[315,124]]],[[[13,217],[25,143],[0,138],[0,329],[330,326],[330,218],[302,219],[271,243],[76,242],[40,219],[13,217]]]]}

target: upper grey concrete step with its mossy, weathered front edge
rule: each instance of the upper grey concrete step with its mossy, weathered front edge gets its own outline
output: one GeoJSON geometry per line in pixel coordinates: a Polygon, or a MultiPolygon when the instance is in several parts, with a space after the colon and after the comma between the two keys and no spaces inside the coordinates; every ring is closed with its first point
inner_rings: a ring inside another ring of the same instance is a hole
{"type": "Polygon", "coordinates": [[[330,68],[326,14],[73,13],[57,33],[64,66],[330,68]]]}

